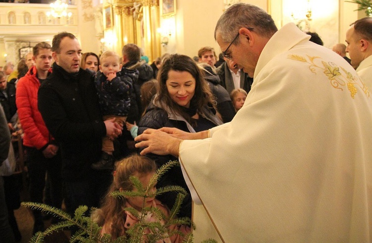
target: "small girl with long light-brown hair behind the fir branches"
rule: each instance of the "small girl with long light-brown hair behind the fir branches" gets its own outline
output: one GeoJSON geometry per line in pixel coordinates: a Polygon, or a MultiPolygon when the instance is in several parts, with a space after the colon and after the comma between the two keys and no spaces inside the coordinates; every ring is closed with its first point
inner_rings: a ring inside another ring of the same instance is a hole
{"type": "MultiPolygon", "coordinates": [[[[111,195],[113,191],[136,191],[133,183],[129,180],[131,176],[137,177],[143,187],[146,187],[155,173],[155,162],[145,156],[134,154],[117,162],[114,180],[104,198],[102,207],[93,213],[93,220],[96,221],[99,226],[103,227],[101,235],[111,234],[113,239],[127,236],[126,231],[139,221],[137,217],[125,210],[125,208],[128,207],[132,207],[139,212],[143,207],[155,207],[164,213],[166,216],[165,218],[168,218],[170,212],[168,207],[164,206],[159,200],[153,197],[113,197],[111,195]]],[[[154,185],[151,191],[155,192],[155,190],[156,188],[154,185]]],[[[152,214],[147,215],[146,222],[165,224],[163,219],[159,220],[152,214]]],[[[185,235],[190,232],[190,228],[186,225],[171,225],[168,230],[169,232],[177,230],[185,235]]],[[[145,233],[149,234],[150,231],[147,230],[145,233]]],[[[181,235],[175,234],[162,239],[160,242],[178,243],[182,242],[182,240],[183,237],[181,235]]]]}

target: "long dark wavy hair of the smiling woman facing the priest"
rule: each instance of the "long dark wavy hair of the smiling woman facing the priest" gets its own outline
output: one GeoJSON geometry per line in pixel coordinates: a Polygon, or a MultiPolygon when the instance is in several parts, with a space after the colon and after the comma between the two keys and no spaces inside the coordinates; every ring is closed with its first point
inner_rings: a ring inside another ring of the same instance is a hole
{"type": "Polygon", "coordinates": [[[156,101],[164,102],[171,110],[173,114],[181,115],[190,124],[192,122],[191,117],[186,113],[183,107],[179,106],[174,102],[169,95],[166,82],[168,80],[169,71],[174,70],[178,72],[188,72],[195,79],[195,93],[191,98],[190,107],[196,108],[196,111],[200,114],[201,108],[209,105],[213,107],[213,96],[210,92],[208,83],[204,79],[204,74],[201,72],[198,65],[190,57],[181,54],[173,54],[164,59],[162,66],[160,67],[158,74],[158,95],[155,98],[156,101]]]}

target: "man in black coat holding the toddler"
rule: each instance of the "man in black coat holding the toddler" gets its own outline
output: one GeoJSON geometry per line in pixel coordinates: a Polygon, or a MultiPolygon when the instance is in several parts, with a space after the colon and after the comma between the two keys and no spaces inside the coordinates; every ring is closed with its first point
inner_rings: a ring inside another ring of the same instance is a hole
{"type": "Polygon", "coordinates": [[[62,178],[65,182],[68,211],[79,205],[99,207],[111,183],[111,171],[90,168],[100,158],[102,137],[116,138],[122,127],[103,122],[93,76],[80,68],[81,48],[74,35],[54,36],[52,74],[38,92],[38,108],[49,131],[60,143],[62,178]]]}

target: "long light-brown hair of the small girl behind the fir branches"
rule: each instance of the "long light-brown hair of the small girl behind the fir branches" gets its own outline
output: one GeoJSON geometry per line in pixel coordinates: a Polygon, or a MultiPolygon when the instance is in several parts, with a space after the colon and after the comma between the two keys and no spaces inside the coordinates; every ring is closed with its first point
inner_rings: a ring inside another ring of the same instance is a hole
{"type": "MultiPolygon", "coordinates": [[[[93,220],[99,226],[105,223],[111,225],[111,236],[116,239],[125,235],[124,223],[126,214],[124,211],[126,199],[124,197],[114,198],[111,192],[123,190],[132,190],[133,183],[129,180],[130,176],[140,177],[148,173],[156,172],[155,162],[145,156],[133,154],[116,163],[116,171],[114,172],[114,180],[108,190],[107,195],[103,199],[102,206],[96,210],[93,215],[93,220]]],[[[147,185],[143,185],[147,186],[147,185]]]]}

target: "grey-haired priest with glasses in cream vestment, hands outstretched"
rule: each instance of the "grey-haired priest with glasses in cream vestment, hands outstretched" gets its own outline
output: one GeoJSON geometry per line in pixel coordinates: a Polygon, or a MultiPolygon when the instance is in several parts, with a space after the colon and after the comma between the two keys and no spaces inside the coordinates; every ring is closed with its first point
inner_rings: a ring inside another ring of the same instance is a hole
{"type": "Polygon", "coordinates": [[[254,78],[243,108],[209,131],[148,129],[141,154],[179,156],[216,240],[371,242],[372,99],[356,71],[246,3],[223,13],[215,38],[254,78]]]}

